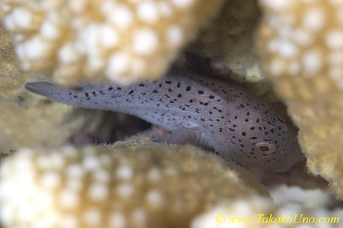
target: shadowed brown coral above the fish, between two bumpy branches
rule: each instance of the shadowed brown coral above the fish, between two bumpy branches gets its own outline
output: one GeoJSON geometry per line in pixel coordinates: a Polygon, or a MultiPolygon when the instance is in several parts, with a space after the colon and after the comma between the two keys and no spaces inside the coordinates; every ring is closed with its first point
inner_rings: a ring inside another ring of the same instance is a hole
{"type": "Polygon", "coordinates": [[[228,0],[191,51],[211,58],[209,65],[216,75],[230,74],[236,81],[263,81],[253,39],[259,17],[255,0],[228,0]]]}

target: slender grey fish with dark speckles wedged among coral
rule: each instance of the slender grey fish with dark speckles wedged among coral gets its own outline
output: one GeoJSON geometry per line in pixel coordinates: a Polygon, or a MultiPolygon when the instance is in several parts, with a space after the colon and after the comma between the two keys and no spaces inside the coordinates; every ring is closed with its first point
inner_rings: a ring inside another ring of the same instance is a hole
{"type": "Polygon", "coordinates": [[[300,157],[296,131],[263,99],[193,72],[171,71],[163,79],[129,86],[61,88],[36,82],[25,88],[68,105],[138,116],[173,131],[171,142],[192,138],[239,164],[283,172],[300,157]]]}

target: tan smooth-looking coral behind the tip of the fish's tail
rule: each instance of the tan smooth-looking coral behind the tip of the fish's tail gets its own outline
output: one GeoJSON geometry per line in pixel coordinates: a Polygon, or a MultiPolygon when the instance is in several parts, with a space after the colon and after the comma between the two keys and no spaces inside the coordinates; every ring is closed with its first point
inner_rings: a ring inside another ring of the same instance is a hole
{"type": "Polygon", "coordinates": [[[3,27],[0,49],[0,152],[66,143],[92,113],[75,112],[73,107],[51,103],[22,88],[25,82],[43,76],[21,71],[11,36],[3,27]]]}

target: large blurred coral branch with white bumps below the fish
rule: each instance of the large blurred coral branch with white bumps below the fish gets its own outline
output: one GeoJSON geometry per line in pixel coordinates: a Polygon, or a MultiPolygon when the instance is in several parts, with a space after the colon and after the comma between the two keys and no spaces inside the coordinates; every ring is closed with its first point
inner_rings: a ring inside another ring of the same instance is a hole
{"type": "Polygon", "coordinates": [[[5,227],[188,227],[224,199],[272,203],[244,168],[190,145],[19,149],[0,175],[5,227]]]}

